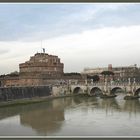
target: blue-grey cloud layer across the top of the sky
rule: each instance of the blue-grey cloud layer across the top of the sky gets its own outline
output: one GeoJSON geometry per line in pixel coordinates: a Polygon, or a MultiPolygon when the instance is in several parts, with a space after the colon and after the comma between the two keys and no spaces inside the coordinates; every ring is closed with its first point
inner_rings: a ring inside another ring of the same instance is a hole
{"type": "Polygon", "coordinates": [[[40,41],[140,23],[139,4],[0,4],[1,41],[40,41]]]}

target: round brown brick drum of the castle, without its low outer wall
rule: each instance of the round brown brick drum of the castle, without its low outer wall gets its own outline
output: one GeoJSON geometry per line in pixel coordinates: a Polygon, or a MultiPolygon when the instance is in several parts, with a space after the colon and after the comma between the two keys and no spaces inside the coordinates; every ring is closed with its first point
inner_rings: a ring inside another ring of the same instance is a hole
{"type": "Polygon", "coordinates": [[[55,77],[63,75],[63,63],[60,58],[46,53],[36,53],[29,61],[19,64],[20,76],[22,77],[55,77]]]}

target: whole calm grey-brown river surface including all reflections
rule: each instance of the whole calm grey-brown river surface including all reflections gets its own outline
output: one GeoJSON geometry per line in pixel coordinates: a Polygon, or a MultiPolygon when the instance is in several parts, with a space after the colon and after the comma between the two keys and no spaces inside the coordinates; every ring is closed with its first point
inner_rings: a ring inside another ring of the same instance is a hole
{"type": "Polygon", "coordinates": [[[0,136],[140,136],[140,99],[66,97],[0,108],[0,136]]]}

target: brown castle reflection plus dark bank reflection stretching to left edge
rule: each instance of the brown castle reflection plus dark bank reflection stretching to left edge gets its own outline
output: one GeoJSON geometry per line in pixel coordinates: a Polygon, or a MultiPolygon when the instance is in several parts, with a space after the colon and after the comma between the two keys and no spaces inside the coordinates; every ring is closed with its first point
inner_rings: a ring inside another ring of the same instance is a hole
{"type": "Polygon", "coordinates": [[[47,103],[1,108],[0,118],[19,114],[21,125],[31,127],[39,135],[47,135],[48,132],[60,130],[61,122],[65,120],[64,106],[63,101],[58,99],[47,103]]]}

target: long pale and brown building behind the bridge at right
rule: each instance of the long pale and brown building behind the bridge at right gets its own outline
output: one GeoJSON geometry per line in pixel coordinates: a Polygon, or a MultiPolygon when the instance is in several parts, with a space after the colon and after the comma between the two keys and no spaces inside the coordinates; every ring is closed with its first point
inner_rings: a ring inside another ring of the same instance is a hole
{"type": "Polygon", "coordinates": [[[136,79],[136,81],[140,81],[140,68],[137,67],[137,65],[131,65],[131,66],[121,66],[121,67],[112,67],[112,64],[109,64],[108,67],[102,67],[102,68],[86,68],[81,73],[84,76],[90,75],[98,75],[100,78],[100,81],[104,81],[105,75],[102,73],[104,71],[112,72],[113,75],[106,76],[109,80],[115,80],[115,81],[128,81],[128,78],[131,80],[136,79]]]}

